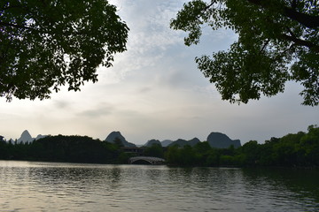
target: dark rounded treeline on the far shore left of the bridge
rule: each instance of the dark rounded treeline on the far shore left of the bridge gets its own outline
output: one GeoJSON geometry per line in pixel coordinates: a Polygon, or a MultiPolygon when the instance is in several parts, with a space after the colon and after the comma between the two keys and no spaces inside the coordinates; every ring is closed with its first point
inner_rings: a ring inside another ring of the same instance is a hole
{"type": "Polygon", "coordinates": [[[71,163],[123,163],[121,146],[88,136],[47,136],[30,143],[0,142],[0,159],[71,163]]]}

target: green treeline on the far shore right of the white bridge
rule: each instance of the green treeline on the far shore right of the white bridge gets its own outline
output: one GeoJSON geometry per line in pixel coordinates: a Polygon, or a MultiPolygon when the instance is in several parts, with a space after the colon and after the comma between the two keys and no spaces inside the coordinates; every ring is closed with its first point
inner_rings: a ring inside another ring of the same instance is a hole
{"type": "Polygon", "coordinates": [[[167,163],[179,166],[286,166],[319,167],[319,128],[310,125],[307,133],[271,138],[264,144],[255,140],[240,148],[211,148],[205,142],[194,147],[170,147],[167,163]]]}

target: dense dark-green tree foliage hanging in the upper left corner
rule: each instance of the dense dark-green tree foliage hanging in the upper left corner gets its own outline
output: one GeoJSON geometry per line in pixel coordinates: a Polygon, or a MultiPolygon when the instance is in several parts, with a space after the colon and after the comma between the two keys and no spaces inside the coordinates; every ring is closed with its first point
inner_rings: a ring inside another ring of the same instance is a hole
{"type": "Polygon", "coordinates": [[[0,3],[0,96],[49,98],[97,81],[126,50],[128,27],[106,0],[8,0],[0,3]]]}

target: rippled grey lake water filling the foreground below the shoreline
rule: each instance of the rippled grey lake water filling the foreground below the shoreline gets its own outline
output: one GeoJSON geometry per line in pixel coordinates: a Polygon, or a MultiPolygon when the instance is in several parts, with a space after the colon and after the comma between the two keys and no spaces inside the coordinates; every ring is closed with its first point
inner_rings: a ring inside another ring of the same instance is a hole
{"type": "Polygon", "coordinates": [[[319,211],[319,173],[0,161],[0,211],[319,211]]]}

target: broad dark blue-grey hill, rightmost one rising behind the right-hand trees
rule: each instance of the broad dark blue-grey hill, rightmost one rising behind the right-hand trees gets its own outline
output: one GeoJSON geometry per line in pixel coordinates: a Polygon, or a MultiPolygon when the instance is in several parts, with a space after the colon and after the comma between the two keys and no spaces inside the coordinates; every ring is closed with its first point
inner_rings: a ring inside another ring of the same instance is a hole
{"type": "Polygon", "coordinates": [[[210,133],[207,137],[207,142],[212,148],[234,148],[241,147],[240,140],[230,140],[230,138],[223,133],[210,133]]]}

